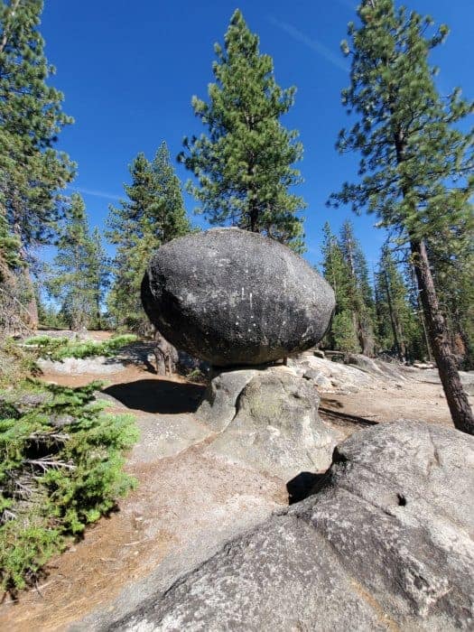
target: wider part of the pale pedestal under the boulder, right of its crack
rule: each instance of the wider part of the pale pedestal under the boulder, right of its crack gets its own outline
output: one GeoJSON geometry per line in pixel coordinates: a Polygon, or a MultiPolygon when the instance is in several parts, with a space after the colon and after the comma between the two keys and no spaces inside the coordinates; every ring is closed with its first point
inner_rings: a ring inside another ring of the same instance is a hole
{"type": "Polygon", "coordinates": [[[336,437],[318,417],[319,401],[316,388],[286,367],[258,371],[208,452],[284,481],[327,469],[336,437]]]}

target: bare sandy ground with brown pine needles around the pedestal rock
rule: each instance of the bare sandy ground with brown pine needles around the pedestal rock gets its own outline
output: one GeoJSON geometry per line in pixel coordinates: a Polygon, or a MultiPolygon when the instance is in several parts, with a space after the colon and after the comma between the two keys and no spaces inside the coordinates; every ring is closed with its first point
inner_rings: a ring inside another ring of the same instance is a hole
{"type": "MultiPolygon", "coordinates": [[[[440,384],[419,381],[417,375],[410,374],[403,382],[375,379],[357,393],[321,392],[321,417],[341,436],[367,423],[400,418],[451,426],[440,384]]],[[[42,376],[64,386],[97,378],[42,376]]],[[[82,540],[51,561],[36,589],[24,591],[17,601],[5,597],[0,629],[66,630],[94,611],[107,613],[116,608],[116,597],[125,586],[139,584],[170,553],[188,555],[192,564],[194,542],[211,549],[228,532],[256,524],[288,503],[284,481],[204,453],[213,437],[193,417],[203,389],[180,376],[156,376],[136,364],[107,375],[104,393],[111,410],[134,414],[142,432],[126,465],[138,479],[138,488],[119,502],[116,512],[88,528],[82,540]],[[160,443],[163,428],[176,435],[171,449],[160,443]]],[[[73,627],[87,628],[100,626],[95,621],[91,627],[73,627]]]]}

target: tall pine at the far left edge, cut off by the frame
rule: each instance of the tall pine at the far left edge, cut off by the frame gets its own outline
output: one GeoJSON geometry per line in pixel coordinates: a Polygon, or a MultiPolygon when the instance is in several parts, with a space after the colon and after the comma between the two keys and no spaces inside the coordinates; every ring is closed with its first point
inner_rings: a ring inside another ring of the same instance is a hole
{"type": "Polygon", "coordinates": [[[58,190],[73,171],[68,156],[53,149],[72,119],[61,111],[62,94],[46,83],[54,69],[38,32],[41,14],[42,0],[0,3],[0,216],[21,245],[33,321],[32,249],[51,243],[60,215],[58,190]]]}

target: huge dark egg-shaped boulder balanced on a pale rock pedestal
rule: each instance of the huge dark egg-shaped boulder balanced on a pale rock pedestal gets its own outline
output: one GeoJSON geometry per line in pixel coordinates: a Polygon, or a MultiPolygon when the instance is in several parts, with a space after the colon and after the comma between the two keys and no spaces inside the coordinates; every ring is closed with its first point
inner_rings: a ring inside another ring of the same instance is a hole
{"type": "Polygon", "coordinates": [[[178,349],[226,367],[259,365],[314,346],[334,293],[289,248],[238,228],[174,239],[153,256],[144,310],[178,349]]]}

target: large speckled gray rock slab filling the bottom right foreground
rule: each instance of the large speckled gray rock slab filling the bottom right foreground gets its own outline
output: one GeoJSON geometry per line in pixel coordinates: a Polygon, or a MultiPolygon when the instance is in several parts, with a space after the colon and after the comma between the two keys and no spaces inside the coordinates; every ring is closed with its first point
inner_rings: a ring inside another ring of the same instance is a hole
{"type": "Polygon", "coordinates": [[[113,629],[472,629],[473,488],[467,434],[417,422],[358,432],[317,494],[113,629]]]}

